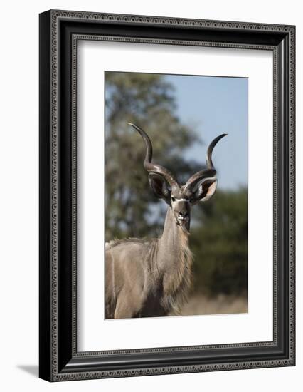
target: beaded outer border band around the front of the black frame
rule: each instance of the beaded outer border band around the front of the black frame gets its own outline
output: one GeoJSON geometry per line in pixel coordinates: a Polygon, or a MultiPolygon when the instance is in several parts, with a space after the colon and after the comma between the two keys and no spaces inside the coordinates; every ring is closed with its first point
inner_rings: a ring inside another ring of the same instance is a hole
{"type": "MultiPolygon", "coordinates": [[[[50,109],[51,109],[51,163],[50,163],[50,195],[51,195],[51,298],[50,298],[50,381],[68,381],[80,380],[88,378],[109,378],[109,377],[126,377],[126,376],[143,376],[151,374],[168,374],[168,373],[188,373],[196,371],[219,371],[232,370],[236,368],[262,368],[275,366],[293,366],[294,365],[294,182],[289,188],[289,219],[290,219],[290,247],[289,247],[289,274],[293,279],[290,284],[289,301],[293,301],[293,306],[290,309],[290,319],[293,320],[290,324],[289,337],[293,339],[289,345],[289,359],[279,361],[245,361],[241,363],[218,363],[213,365],[195,365],[195,366],[173,366],[173,367],[153,367],[142,368],[127,371],[94,371],[94,372],[75,372],[75,373],[58,373],[58,346],[57,346],[57,330],[58,330],[58,303],[57,303],[57,284],[58,284],[58,20],[59,19],[85,19],[86,21],[123,21],[125,23],[137,24],[161,24],[162,26],[186,26],[190,27],[209,27],[219,29],[239,29],[240,31],[268,31],[289,34],[290,43],[290,124],[289,124],[289,144],[294,149],[294,26],[286,25],[269,25],[269,24],[252,24],[243,22],[231,21],[202,21],[198,19],[175,19],[175,18],[161,18],[156,16],[133,16],[133,15],[119,15],[119,14],[97,14],[78,11],[48,11],[50,15],[50,109]],[[292,118],[293,116],[293,118],[292,118]]],[[[43,15],[43,14],[42,14],[43,15]]],[[[294,181],[294,150],[289,155],[289,178],[294,181]]],[[[44,225],[44,223],[43,223],[44,225]]],[[[292,302],[291,302],[292,303],[292,302]]]]}

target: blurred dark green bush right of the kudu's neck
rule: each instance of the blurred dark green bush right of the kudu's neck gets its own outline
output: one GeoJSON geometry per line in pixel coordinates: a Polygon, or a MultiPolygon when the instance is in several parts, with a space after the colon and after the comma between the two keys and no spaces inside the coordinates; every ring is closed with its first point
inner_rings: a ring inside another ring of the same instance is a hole
{"type": "Polygon", "coordinates": [[[194,289],[206,294],[245,294],[248,287],[248,192],[217,191],[200,203],[191,228],[194,289]]]}

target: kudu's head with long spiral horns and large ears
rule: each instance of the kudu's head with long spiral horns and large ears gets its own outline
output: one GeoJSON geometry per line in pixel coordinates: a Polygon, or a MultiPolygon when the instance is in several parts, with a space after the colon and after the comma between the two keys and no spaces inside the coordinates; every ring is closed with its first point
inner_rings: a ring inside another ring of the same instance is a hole
{"type": "Polygon", "coordinates": [[[156,197],[160,197],[171,207],[176,225],[189,232],[191,223],[191,206],[197,202],[206,202],[216,192],[216,170],[213,167],[211,155],[213,148],[226,133],[217,136],[208,146],[206,153],[206,169],[192,175],[185,185],[180,185],[174,175],[165,167],[151,163],[152,145],[147,133],[137,125],[129,123],[142,136],[147,153],[144,159],[144,168],[149,172],[149,185],[156,197]]]}

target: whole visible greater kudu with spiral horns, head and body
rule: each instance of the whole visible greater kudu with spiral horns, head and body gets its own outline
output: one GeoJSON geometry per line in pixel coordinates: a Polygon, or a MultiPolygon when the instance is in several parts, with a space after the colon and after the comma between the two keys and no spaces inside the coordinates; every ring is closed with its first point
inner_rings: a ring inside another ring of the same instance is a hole
{"type": "Polygon", "coordinates": [[[179,185],[164,167],[151,163],[152,146],[142,136],[147,153],[144,168],[156,197],[168,205],[164,230],[156,239],[122,239],[105,244],[105,318],[168,316],[179,314],[191,286],[192,254],[188,248],[191,206],[209,200],[216,191],[216,170],[211,155],[217,136],[208,146],[206,169],[179,185]]]}

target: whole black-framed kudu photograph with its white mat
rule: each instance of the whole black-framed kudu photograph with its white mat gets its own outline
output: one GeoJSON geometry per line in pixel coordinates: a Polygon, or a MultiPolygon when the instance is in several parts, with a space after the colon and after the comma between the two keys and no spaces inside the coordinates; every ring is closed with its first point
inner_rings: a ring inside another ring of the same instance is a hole
{"type": "Polygon", "coordinates": [[[40,377],[294,366],[294,26],[40,14],[40,377]]]}

